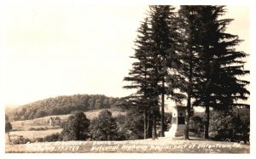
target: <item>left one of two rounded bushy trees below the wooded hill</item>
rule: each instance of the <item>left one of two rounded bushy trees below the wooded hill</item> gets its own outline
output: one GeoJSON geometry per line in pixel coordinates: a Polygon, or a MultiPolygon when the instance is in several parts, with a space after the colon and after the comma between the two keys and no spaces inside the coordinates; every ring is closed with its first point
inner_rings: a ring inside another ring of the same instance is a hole
{"type": "Polygon", "coordinates": [[[86,118],[83,111],[74,111],[68,116],[67,122],[62,124],[61,136],[63,140],[84,140],[88,138],[89,119],[86,118]]]}

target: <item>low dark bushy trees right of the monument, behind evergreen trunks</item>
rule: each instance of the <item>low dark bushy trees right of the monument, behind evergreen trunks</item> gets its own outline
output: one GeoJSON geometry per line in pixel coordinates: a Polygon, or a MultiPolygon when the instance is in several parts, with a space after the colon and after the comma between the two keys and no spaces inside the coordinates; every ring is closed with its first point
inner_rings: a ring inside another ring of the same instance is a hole
{"type": "MultiPolygon", "coordinates": [[[[189,122],[189,132],[204,136],[204,113],[195,112],[189,122]]],[[[250,141],[250,110],[234,107],[230,111],[212,110],[209,137],[213,140],[247,143],[250,141]]]]}

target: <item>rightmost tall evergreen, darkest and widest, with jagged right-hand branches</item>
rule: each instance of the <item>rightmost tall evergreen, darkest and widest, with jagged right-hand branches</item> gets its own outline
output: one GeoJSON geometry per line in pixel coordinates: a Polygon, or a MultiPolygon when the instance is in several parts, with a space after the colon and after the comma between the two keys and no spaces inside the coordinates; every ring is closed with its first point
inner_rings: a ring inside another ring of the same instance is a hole
{"type": "Polygon", "coordinates": [[[197,8],[200,21],[201,82],[197,86],[196,105],[206,107],[205,138],[208,138],[210,107],[218,110],[230,110],[232,106],[246,105],[237,103],[238,99],[247,99],[249,92],[245,88],[249,83],[241,80],[249,73],[243,69],[243,58],[247,54],[236,51],[241,40],[236,35],[226,33],[226,26],[232,20],[219,20],[224,15],[224,6],[200,6],[197,8]]]}

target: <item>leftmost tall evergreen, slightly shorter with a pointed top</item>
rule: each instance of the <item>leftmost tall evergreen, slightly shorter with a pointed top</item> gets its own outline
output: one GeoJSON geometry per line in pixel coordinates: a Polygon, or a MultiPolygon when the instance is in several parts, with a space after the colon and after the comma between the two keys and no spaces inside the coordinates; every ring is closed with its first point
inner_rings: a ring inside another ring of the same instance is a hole
{"type": "MultiPolygon", "coordinates": [[[[132,64],[132,69],[129,72],[129,77],[125,77],[124,81],[131,82],[131,85],[126,85],[124,88],[136,88],[136,94],[132,94],[128,97],[129,105],[137,106],[139,110],[143,111],[144,118],[144,139],[150,136],[147,132],[147,123],[149,122],[149,100],[151,99],[151,93],[154,91],[150,87],[150,75],[149,70],[152,68],[150,64],[151,45],[150,45],[150,32],[148,28],[148,19],[146,18],[142,26],[137,30],[138,36],[135,41],[135,54],[131,56],[132,59],[137,60],[132,64]]],[[[149,123],[152,124],[152,123],[149,123]]]]}

